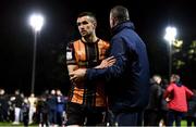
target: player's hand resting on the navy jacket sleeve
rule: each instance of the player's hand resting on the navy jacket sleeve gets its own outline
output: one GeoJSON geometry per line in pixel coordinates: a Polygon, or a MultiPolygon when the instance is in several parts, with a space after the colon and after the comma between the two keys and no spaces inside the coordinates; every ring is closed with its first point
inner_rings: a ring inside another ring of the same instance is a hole
{"type": "Polygon", "coordinates": [[[112,66],[115,63],[115,61],[117,60],[114,59],[114,56],[110,56],[108,59],[102,60],[100,65],[96,66],[95,68],[106,68],[112,66]]]}

